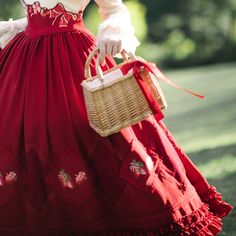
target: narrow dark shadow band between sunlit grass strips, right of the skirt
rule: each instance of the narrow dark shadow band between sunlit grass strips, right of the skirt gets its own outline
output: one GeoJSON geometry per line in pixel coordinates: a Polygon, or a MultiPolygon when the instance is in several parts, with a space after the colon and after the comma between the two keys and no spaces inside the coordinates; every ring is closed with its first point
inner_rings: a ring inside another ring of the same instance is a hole
{"type": "Polygon", "coordinates": [[[236,144],[204,149],[198,152],[189,152],[186,154],[196,165],[206,164],[209,161],[220,159],[222,156],[236,156],[236,144]]]}

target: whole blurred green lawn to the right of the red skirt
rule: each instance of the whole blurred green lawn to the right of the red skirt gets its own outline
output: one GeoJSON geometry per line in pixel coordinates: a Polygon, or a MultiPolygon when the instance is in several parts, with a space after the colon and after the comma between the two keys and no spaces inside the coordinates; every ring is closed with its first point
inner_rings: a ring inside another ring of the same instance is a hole
{"type": "MultiPolygon", "coordinates": [[[[168,101],[164,123],[223,199],[236,208],[236,63],[164,71],[204,100],[160,82],[168,101]]],[[[236,209],[221,235],[236,235],[236,209]]]]}

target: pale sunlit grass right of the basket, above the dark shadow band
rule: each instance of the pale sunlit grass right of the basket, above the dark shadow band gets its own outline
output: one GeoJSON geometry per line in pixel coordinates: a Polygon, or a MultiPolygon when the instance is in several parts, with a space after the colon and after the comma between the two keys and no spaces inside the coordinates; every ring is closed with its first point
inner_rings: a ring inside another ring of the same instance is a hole
{"type": "Polygon", "coordinates": [[[236,144],[236,63],[165,74],[206,96],[200,100],[160,83],[169,105],[164,122],[186,151],[236,144]]]}

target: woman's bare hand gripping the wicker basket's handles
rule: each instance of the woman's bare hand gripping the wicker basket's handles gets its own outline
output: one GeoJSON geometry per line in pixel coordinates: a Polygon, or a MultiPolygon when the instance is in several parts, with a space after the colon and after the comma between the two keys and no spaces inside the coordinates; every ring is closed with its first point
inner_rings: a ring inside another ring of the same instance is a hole
{"type": "Polygon", "coordinates": [[[105,56],[114,56],[122,51],[122,39],[119,35],[107,35],[98,40],[101,64],[105,65],[105,56]]]}

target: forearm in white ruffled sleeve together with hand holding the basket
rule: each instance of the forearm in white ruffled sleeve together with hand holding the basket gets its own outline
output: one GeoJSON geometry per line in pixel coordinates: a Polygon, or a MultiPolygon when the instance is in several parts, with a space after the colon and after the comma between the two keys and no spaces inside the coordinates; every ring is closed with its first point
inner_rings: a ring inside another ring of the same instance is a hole
{"type": "Polygon", "coordinates": [[[97,34],[97,46],[100,49],[102,64],[105,62],[105,55],[122,58],[120,52],[123,49],[135,53],[140,42],[135,36],[128,9],[122,0],[95,0],[95,2],[103,18],[97,34]]]}

